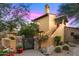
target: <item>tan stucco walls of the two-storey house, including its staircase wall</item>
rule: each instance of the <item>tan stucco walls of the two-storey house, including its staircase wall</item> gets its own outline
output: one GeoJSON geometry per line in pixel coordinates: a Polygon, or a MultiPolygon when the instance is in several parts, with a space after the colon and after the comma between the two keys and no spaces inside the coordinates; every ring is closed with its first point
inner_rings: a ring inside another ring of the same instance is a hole
{"type": "Polygon", "coordinates": [[[36,21],[39,24],[39,28],[41,31],[50,33],[51,30],[56,30],[53,34],[51,34],[47,41],[41,43],[41,47],[48,47],[50,45],[54,45],[53,38],[55,36],[61,36],[61,41],[64,41],[64,23],[60,24],[60,26],[57,28],[57,25],[55,24],[55,18],[56,15],[49,14],[49,16],[46,16],[36,21]]]}

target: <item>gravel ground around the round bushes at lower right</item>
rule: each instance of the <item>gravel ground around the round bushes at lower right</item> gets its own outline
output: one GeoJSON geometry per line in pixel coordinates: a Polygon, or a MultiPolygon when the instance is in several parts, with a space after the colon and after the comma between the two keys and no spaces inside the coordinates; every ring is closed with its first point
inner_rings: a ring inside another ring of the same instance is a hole
{"type": "Polygon", "coordinates": [[[79,56],[79,45],[70,47],[70,51],[62,51],[61,53],[52,52],[51,56],[79,56]]]}

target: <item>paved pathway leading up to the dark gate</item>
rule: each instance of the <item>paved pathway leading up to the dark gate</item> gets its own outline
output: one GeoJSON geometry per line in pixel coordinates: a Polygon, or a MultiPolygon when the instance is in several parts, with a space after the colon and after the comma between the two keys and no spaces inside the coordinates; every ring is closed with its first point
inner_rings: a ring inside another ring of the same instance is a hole
{"type": "Polygon", "coordinates": [[[37,50],[26,50],[22,54],[17,54],[17,56],[44,56],[44,55],[37,50]]]}

